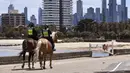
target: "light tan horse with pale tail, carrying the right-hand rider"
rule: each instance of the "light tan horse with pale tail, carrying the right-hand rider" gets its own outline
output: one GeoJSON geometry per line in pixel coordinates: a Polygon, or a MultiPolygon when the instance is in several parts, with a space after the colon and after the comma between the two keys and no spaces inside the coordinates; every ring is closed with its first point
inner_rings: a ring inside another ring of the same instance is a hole
{"type": "MultiPolygon", "coordinates": [[[[54,42],[57,41],[56,32],[53,32],[52,38],[53,38],[54,42]]],[[[53,50],[52,50],[51,43],[47,39],[41,38],[38,40],[36,52],[37,52],[36,59],[38,59],[38,57],[39,57],[41,69],[46,69],[45,64],[46,64],[47,55],[50,56],[50,58],[49,58],[50,59],[50,68],[52,68],[53,50]],[[42,66],[43,59],[44,59],[44,65],[42,66]]]]}

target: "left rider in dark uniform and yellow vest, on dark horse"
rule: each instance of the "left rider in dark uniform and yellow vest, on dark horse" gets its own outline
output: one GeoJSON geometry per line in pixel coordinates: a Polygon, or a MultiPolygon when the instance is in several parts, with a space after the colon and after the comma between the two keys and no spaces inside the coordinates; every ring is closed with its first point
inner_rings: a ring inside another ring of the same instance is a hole
{"type": "Polygon", "coordinates": [[[32,38],[33,40],[38,40],[38,33],[34,28],[34,24],[31,22],[28,26],[28,38],[32,38]]]}

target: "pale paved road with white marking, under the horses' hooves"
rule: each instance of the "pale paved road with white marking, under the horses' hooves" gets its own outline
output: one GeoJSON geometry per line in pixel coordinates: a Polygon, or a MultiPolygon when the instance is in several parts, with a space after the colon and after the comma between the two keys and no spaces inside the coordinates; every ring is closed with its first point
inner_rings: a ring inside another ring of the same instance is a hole
{"type": "Polygon", "coordinates": [[[1,65],[0,73],[94,73],[96,71],[116,71],[129,69],[130,55],[113,56],[105,58],[75,58],[53,61],[53,69],[40,70],[39,63],[35,64],[34,70],[28,70],[27,65],[24,70],[21,64],[1,65]],[[129,67],[129,68],[128,68],[129,67]]]}

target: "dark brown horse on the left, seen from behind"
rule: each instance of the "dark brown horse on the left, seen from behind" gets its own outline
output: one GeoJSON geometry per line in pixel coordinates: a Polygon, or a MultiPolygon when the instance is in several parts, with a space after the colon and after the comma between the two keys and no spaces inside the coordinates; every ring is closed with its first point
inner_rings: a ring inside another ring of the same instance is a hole
{"type": "Polygon", "coordinates": [[[24,68],[25,66],[25,55],[26,52],[29,53],[28,56],[28,67],[29,69],[31,69],[30,67],[30,62],[32,59],[32,68],[34,68],[34,61],[33,61],[33,57],[34,57],[34,50],[36,48],[37,45],[37,41],[33,40],[33,39],[25,39],[22,43],[22,51],[20,52],[19,57],[23,56],[23,65],[22,68],[24,68]]]}

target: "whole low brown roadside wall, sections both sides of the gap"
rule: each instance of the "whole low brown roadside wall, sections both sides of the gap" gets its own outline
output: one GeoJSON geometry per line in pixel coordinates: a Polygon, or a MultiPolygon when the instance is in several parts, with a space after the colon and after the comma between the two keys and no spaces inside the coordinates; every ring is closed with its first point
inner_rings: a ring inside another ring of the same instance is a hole
{"type": "MultiPolygon", "coordinates": [[[[114,54],[116,55],[126,55],[130,54],[130,49],[114,49],[114,54]]],[[[92,57],[92,51],[83,52],[70,52],[70,53],[55,53],[53,55],[53,60],[70,59],[70,58],[80,58],[80,57],[92,57]]],[[[26,61],[27,61],[26,56],[26,61]]],[[[47,58],[48,60],[48,58],[47,58]]],[[[22,63],[22,57],[10,56],[10,57],[0,57],[0,65],[4,64],[16,64],[22,63]]]]}

